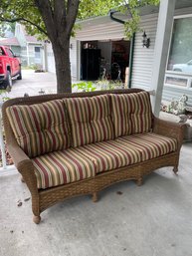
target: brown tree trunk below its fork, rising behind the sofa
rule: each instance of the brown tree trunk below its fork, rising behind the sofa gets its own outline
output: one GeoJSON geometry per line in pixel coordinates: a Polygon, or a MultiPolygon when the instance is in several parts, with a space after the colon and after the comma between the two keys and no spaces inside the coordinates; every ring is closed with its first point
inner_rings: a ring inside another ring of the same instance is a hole
{"type": "Polygon", "coordinates": [[[52,42],[56,63],[57,93],[72,93],[70,40],[52,42]]]}

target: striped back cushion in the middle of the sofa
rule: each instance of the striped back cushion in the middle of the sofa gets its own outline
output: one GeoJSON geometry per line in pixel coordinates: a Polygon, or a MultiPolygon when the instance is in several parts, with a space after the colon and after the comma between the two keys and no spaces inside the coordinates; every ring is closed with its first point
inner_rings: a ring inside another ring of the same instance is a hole
{"type": "Polygon", "coordinates": [[[113,138],[108,95],[67,99],[74,147],[113,138]]]}

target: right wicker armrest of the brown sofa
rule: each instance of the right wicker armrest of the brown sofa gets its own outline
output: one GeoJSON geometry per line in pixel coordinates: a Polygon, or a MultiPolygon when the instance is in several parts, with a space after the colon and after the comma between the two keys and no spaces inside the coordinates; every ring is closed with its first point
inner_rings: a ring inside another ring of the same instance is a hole
{"type": "Polygon", "coordinates": [[[176,138],[179,146],[181,146],[183,142],[185,127],[185,124],[164,121],[153,117],[153,132],[176,138]]]}

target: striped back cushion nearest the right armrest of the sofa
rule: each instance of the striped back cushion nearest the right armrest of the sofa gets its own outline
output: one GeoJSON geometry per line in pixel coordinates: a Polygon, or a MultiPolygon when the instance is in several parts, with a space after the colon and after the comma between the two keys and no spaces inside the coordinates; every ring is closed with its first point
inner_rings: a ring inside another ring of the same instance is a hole
{"type": "Polygon", "coordinates": [[[147,92],[111,95],[111,102],[115,137],[150,130],[152,113],[147,92]]]}

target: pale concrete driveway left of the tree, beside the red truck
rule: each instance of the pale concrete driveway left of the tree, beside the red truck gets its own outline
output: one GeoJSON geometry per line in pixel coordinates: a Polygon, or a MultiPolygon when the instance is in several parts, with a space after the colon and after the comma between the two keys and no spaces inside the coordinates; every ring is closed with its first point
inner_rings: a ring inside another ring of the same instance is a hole
{"type": "Polygon", "coordinates": [[[23,97],[24,94],[37,96],[40,91],[46,94],[55,94],[57,92],[56,75],[53,73],[35,73],[34,70],[23,70],[22,80],[14,80],[10,98],[23,97]]]}

